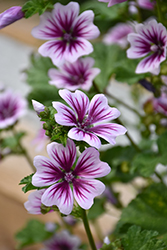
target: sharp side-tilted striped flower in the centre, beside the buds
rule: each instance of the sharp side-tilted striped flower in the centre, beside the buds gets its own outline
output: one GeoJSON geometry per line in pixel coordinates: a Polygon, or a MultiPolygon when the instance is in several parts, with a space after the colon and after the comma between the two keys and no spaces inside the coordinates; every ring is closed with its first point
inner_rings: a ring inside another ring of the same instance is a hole
{"type": "Polygon", "coordinates": [[[76,90],[75,93],[64,89],[59,90],[59,95],[71,106],[60,102],[53,102],[57,110],[55,120],[63,126],[72,126],[68,137],[77,141],[85,141],[89,145],[100,148],[102,137],[111,144],[115,144],[115,138],[126,132],[126,128],[115,123],[103,123],[117,118],[120,112],[116,108],[108,106],[107,98],[103,94],[95,95],[89,103],[88,97],[76,90]]]}

